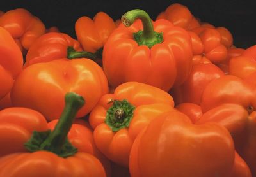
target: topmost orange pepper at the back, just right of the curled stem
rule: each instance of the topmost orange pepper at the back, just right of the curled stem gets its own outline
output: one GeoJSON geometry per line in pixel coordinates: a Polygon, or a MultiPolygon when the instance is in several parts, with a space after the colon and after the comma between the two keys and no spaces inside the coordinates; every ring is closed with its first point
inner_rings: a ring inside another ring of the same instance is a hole
{"type": "Polygon", "coordinates": [[[171,4],[165,11],[159,13],[156,20],[159,19],[169,20],[173,25],[187,30],[200,26],[200,23],[191,14],[188,7],[179,3],[171,4]]]}

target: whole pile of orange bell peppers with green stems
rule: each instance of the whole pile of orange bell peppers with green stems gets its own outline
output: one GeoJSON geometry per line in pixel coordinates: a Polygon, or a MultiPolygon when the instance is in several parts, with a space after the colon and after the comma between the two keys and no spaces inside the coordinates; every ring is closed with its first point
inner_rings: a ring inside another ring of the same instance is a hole
{"type": "Polygon", "coordinates": [[[256,44],[174,3],[0,13],[0,176],[256,177],[256,44]]]}

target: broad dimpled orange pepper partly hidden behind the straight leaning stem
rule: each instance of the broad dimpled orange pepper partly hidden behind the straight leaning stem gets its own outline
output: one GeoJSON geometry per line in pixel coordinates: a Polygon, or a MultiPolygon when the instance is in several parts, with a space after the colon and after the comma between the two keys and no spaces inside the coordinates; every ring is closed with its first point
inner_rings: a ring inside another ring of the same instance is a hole
{"type": "Polygon", "coordinates": [[[11,99],[13,106],[32,108],[54,120],[60,117],[66,92],[84,97],[86,104],[76,115],[83,117],[108,93],[108,81],[90,59],[52,60],[26,67],[15,80],[11,99]]]}

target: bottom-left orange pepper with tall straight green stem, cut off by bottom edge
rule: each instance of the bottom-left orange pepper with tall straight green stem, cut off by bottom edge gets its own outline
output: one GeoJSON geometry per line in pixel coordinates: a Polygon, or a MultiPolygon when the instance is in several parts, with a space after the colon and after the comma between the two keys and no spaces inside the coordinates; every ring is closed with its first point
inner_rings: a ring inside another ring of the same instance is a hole
{"type": "Polygon", "coordinates": [[[100,161],[90,153],[77,152],[67,139],[83,97],[65,95],[65,109],[53,131],[33,132],[25,143],[29,153],[0,158],[0,176],[106,176],[100,161]]]}

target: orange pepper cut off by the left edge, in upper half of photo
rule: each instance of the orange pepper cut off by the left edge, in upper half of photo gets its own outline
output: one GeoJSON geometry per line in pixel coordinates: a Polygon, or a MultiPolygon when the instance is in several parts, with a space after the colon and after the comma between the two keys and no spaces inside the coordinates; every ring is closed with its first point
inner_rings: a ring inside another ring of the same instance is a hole
{"type": "Polygon", "coordinates": [[[13,81],[22,71],[23,58],[19,46],[6,29],[0,27],[0,99],[12,89],[13,81]]]}

